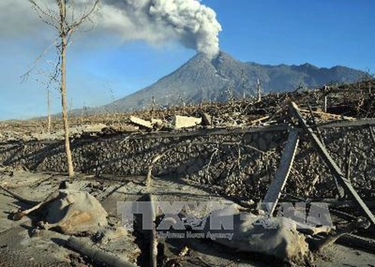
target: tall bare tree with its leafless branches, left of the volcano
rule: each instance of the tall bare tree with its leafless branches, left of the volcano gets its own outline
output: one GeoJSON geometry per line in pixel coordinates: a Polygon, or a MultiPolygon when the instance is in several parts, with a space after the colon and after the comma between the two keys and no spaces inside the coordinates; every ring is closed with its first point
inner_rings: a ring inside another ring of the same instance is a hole
{"type": "Polygon", "coordinates": [[[43,7],[41,3],[36,3],[34,0],[28,0],[34,8],[36,14],[41,20],[51,26],[59,34],[56,48],[59,52],[59,63],[55,73],[60,75],[60,93],[62,117],[65,131],[65,152],[68,165],[68,174],[72,178],[74,176],[73,162],[71,157],[70,142],[69,142],[69,124],[67,113],[67,96],[66,96],[66,49],[69,44],[72,34],[80,28],[80,26],[90,20],[90,15],[96,10],[99,0],[95,0],[92,6],[83,11],[78,19],[74,15],[74,1],[73,0],[54,0],[56,6],[43,7]],[[57,8],[57,12],[54,11],[57,8]],[[67,15],[67,8],[70,9],[69,16],[67,15]]]}

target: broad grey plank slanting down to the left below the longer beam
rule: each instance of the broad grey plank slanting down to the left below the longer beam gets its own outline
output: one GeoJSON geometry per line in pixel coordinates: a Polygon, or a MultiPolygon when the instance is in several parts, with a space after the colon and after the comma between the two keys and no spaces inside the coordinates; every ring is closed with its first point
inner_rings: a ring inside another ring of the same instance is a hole
{"type": "Polygon", "coordinates": [[[276,171],[275,179],[267,190],[266,196],[261,204],[261,209],[268,211],[270,215],[275,210],[281,192],[288,180],[290,169],[292,168],[294,157],[298,147],[298,130],[292,128],[289,131],[288,141],[283,150],[280,165],[276,171]]]}

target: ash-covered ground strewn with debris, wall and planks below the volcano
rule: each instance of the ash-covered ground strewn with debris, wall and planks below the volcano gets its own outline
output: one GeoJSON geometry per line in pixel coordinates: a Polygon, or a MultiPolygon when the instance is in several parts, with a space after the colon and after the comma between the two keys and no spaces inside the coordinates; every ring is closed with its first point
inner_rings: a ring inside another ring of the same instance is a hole
{"type": "Polygon", "coordinates": [[[0,122],[0,262],[371,265],[374,87],[0,122]]]}

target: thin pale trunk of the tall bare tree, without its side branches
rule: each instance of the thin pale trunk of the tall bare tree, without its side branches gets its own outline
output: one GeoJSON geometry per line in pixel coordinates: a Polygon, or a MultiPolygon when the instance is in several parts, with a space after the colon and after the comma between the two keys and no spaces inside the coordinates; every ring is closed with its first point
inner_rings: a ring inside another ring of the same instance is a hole
{"type": "Polygon", "coordinates": [[[68,164],[68,174],[69,178],[74,176],[74,169],[73,169],[73,162],[71,159],[71,151],[70,151],[70,143],[69,143],[69,124],[68,124],[68,112],[67,112],[67,97],[66,97],[66,80],[65,80],[65,64],[66,64],[66,32],[64,29],[64,22],[65,22],[65,0],[60,0],[60,23],[61,23],[61,105],[62,105],[62,115],[63,115],[63,123],[64,123],[64,131],[65,131],[65,152],[66,152],[66,159],[68,164]]]}

